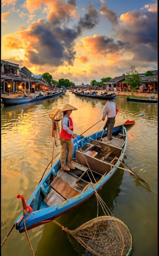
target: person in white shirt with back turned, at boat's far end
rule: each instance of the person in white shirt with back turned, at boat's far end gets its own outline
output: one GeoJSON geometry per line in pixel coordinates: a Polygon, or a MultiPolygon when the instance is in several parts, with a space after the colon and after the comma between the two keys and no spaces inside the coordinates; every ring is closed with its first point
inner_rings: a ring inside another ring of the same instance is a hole
{"type": "Polygon", "coordinates": [[[102,116],[102,121],[105,121],[105,117],[107,116],[107,121],[103,128],[103,130],[107,128],[107,137],[108,137],[107,143],[110,143],[112,139],[112,132],[115,124],[115,115],[116,115],[115,104],[112,101],[107,101],[103,108],[103,116],[102,116]]]}

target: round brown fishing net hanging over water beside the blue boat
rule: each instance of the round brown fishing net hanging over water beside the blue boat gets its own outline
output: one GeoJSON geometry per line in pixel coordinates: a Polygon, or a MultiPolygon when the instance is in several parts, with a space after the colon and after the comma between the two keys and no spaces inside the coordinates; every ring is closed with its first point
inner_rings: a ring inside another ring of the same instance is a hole
{"type": "Polygon", "coordinates": [[[132,236],[128,227],[113,216],[100,216],[77,229],[63,227],[62,230],[97,256],[128,256],[132,252],[132,236]]]}

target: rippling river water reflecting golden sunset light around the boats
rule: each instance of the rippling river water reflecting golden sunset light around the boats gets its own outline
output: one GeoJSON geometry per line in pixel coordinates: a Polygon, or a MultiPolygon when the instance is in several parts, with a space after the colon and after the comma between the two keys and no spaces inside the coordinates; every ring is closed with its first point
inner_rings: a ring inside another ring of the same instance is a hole
{"type": "MultiPolygon", "coordinates": [[[[128,131],[124,162],[149,184],[150,190],[128,171],[118,170],[99,194],[113,215],[129,227],[133,237],[132,256],[157,256],[158,105],[127,102],[124,96],[113,101],[119,106],[115,125],[135,120],[135,126],[128,131]]],[[[81,98],[69,91],[54,99],[1,108],[1,242],[22,212],[17,195],[22,194],[27,202],[51,159],[59,157],[60,144],[58,141],[57,147],[53,147],[49,113],[66,103],[78,108],[71,114],[75,133],[89,135],[102,130],[105,122],[100,120],[105,100],[81,98]]],[[[57,221],[74,230],[96,216],[93,196],[57,221]]],[[[54,222],[29,230],[28,237],[36,256],[82,256],[85,251],[54,222]]],[[[15,228],[1,253],[33,255],[26,234],[15,228]]]]}

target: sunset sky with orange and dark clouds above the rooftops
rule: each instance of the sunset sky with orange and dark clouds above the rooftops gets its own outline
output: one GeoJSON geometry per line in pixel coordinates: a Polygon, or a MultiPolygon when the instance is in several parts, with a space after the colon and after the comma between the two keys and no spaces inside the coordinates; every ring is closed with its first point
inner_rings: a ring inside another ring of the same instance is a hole
{"type": "Polygon", "coordinates": [[[2,0],[1,59],[75,85],[157,70],[157,1],[2,0]]]}

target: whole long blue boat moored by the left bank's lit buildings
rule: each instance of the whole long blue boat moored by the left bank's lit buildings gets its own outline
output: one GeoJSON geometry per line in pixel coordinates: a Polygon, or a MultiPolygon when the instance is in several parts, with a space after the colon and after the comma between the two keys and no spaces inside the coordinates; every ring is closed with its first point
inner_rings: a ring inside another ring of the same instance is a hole
{"type": "Polygon", "coordinates": [[[9,96],[1,96],[2,102],[4,105],[17,105],[17,104],[24,104],[33,101],[39,101],[44,99],[50,99],[54,97],[61,96],[64,93],[63,90],[58,90],[50,93],[39,92],[38,94],[34,94],[34,96],[28,96],[28,94],[24,93],[23,96],[16,95],[15,97],[9,96]]]}

